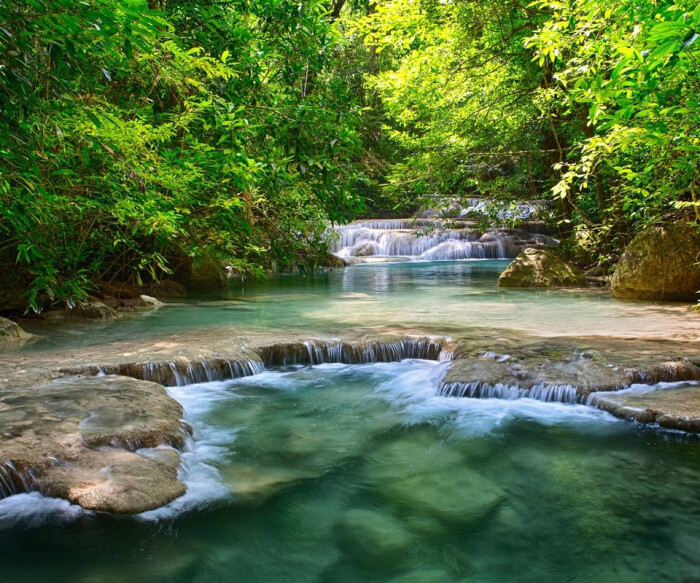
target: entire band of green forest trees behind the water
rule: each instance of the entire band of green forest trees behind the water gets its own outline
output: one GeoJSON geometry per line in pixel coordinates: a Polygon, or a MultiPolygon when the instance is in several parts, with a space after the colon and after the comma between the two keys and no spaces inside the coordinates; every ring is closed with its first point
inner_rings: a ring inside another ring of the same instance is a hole
{"type": "Polygon", "coordinates": [[[435,195],[548,201],[610,265],[700,220],[699,35],[689,0],[7,0],[0,274],[39,310],[314,267],[435,195]]]}

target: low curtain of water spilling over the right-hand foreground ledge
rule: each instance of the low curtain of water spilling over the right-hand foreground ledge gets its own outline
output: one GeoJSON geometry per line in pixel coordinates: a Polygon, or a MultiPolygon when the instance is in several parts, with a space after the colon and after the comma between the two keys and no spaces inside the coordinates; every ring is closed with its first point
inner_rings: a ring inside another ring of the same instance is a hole
{"type": "Polygon", "coordinates": [[[584,404],[585,397],[579,395],[576,387],[571,385],[534,385],[529,389],[518,386],[495,385],[482,382],[441,383],[438,394],[442,397],[467,397],[470,399],[535,399],[545,403],[584,404]]]}

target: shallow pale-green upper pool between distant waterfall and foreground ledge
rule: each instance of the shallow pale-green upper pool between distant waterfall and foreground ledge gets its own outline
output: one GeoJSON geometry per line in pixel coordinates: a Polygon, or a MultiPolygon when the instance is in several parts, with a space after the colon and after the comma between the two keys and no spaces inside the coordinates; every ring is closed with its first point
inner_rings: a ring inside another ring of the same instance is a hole
{"type": "Polygon", "coordinates": [[[25,350],[94,346],[229,326],[232,334],[285,331],[338,336],[419,329],[459,336],[478,328],[520,333],[700,339],[700,314],[683,304],[614,300],[602,291],[499,290],[507,261],[352,265],[343,270],[231,282],[221,293],[127,313],[115,322],[22,325],[44,337],[25,350]]]}

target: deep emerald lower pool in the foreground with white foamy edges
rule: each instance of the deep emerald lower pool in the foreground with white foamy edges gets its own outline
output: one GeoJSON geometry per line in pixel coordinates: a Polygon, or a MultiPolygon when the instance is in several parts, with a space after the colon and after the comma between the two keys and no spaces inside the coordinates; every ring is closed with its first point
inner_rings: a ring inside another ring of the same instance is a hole
{"type": "Polygon", "coordinates": [[[696,440],[580,405],[439,397],[445,366],[170,389],[195,427],[188,493],[123,518],[2,500],[2,581],[700,580],[696,440]]]}

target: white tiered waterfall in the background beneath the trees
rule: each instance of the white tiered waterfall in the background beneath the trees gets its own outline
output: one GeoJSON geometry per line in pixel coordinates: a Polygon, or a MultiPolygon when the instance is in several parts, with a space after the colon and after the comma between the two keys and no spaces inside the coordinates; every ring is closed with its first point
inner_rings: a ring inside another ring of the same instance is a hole
{"type": "Polygon", "coordinates": [[[525,247],[556,243],[540,233],[521,229],[486,232],[466,223],[442,228],[431,219],[356,221],[338,228],[335,253],[355,262],[368,257],[405,258],[414,261],[457,259],[511,259],[525,247]]]}

